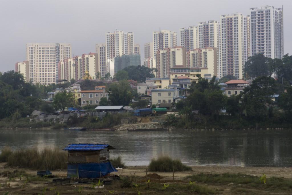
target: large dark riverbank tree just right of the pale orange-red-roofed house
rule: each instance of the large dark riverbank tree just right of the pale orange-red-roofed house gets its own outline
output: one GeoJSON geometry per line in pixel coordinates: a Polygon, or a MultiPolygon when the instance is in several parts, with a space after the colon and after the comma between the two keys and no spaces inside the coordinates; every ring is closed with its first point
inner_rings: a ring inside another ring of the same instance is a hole
{"type": "Polygon", "coordinates": [[[269,115],[272,106],[272,95],[276,91],[275,80],[261,76],[253,80],[252,84],[244,88],[239,95],[240,107],[249,119],[263,120],[269,115]]]}

